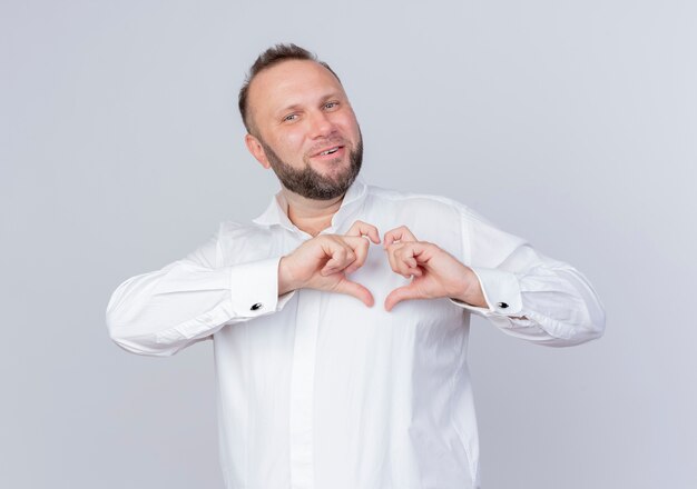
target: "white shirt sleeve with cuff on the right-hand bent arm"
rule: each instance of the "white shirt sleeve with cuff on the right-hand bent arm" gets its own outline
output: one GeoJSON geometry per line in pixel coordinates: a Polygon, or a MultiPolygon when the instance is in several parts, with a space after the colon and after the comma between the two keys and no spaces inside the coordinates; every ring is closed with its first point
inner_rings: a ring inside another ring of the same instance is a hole
{"type": "Polygon", "coordinates": [[[469,209],[462,230],[464,263],[477,275],[488,307],[452,299],[454,303],[508,335],[540,345],[566,347],[602,336],[605,309],[578,270],[469,209]]]}

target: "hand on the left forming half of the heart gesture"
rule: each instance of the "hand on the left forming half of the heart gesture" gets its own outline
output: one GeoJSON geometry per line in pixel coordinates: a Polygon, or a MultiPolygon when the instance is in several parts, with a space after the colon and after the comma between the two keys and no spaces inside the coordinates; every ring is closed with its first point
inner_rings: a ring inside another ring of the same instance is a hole
{"type": "Polygon", "coordinates": [[[372,307],[373,295],[360,283],[346,278],[365,263],[370,242],[380,243],[374,226],[356,221],[346,236],[317,234],[281,258],[278,295],[295,289],[317,289],[346,293],[372,307]]]}

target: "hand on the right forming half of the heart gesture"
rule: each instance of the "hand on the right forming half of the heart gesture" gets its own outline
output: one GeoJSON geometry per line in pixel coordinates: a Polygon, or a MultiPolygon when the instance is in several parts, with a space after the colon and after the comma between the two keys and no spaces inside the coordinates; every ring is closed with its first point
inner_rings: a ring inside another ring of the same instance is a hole
{"type": "Polygon", "coordinates": [[[385,233],[384,248],[390,267],[411,283],[394,289],[385,299],[385,309],[410,299],[449,297],[475,307],[487,307],[477,275],[471,268],[438,246],[418,241],[405,227],[385,233]]]}

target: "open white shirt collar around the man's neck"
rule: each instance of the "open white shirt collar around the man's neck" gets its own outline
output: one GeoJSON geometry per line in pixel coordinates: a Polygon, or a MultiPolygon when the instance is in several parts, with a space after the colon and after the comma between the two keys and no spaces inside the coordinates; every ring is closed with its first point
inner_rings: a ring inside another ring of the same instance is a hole
{"type": "MultiPolygon", "coordinates": [[[[367,186],[360,177],[357,177],[348,190],[346,190],[346,194],[344,196],[344,200],[342,201],[340,209],[332,218],[332,224],[323,232],[336,232],[336,229],[341,228],[342,223],[350,219],[351,216],[355,214],[355,212],[361,208],[366,194],[367,186]]],[[[283,193],[278,192],[271,199],[271,203],[266,210],[258,218],[254,219],[253,222],[259,226],[268,227],[282,226],[297,232],[300,230],[293,222],[291,222],[291,219],[288,219],[287,208],[288,203],[283,197],[283,193]]]]}

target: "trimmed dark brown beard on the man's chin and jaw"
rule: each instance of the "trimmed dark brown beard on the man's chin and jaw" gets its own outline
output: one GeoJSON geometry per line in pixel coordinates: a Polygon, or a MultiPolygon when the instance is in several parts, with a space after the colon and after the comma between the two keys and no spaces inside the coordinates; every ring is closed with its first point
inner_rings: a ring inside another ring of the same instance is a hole
{"type": "Polygon", "coordinates": [[[363,137],[360,132],[356,147],[348,152],[348,167],[334,176],[320,173],[307,161],[305,161],[305,168],[301,170],[293,168],[283,161],[266,142],[259,139],[259,143],[281,183],[306,199],[331,200],[343,196],[355,181],[363,163],[363,137]]]}

